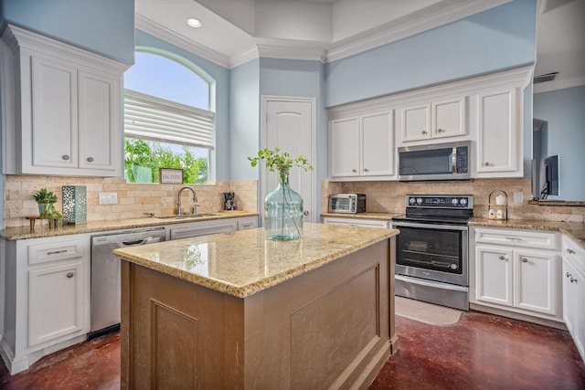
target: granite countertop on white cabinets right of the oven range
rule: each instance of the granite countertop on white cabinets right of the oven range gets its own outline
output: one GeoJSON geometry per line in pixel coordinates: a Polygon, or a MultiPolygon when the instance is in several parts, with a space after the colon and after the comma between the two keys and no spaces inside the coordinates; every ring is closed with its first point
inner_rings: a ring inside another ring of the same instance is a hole
{"type": "Polygon", "coordinates": [[[469,222],[469,226],[557,231],[567,235],[581,248],[585,249],[585,224],[579,222],[543,221],[541,219],[501,220],[473,217],[469,222]]]}

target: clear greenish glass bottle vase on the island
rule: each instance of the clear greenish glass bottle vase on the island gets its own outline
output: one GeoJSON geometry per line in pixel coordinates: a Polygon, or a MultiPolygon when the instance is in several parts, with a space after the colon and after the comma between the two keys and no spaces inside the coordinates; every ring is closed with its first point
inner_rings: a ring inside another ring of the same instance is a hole
{"type": "Polygon", "coordinates": [[[303,237],[303,198],[291,188],[288,172],[279,174],[278,187],[264,199],[264,227],[270,239],[303,237]]]}

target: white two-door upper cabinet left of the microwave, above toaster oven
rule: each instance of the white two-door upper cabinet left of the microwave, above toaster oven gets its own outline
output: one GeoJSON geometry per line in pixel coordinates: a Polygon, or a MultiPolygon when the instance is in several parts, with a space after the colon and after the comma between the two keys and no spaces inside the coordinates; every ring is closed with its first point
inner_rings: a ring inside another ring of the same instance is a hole
{"type": "Polygon", "coordinates": [[[391,111],[329,121],[331,176],[391,176],[394,174],[393,135],[391,111]]]}

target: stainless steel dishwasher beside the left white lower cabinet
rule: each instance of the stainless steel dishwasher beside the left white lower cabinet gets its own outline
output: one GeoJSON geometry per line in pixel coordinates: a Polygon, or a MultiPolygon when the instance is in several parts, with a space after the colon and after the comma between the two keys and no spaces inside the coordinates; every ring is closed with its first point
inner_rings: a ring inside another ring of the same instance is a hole
{"type": "Polygon", "coordinates": [[[120,328],[121,267],[112,251],[165,241],[165,236],[165,227],[154,227],[91,237],[90,339],[120,328]]]}

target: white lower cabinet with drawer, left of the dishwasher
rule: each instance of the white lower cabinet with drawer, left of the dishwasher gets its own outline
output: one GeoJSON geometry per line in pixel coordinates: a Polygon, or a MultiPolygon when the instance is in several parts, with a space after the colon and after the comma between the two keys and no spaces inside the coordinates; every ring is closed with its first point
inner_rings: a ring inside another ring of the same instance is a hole
{"type": "Polygon", "coordinates": [[[4,329],[11,374],[90,331],[90,235],[3,242],[4,329]]]}

